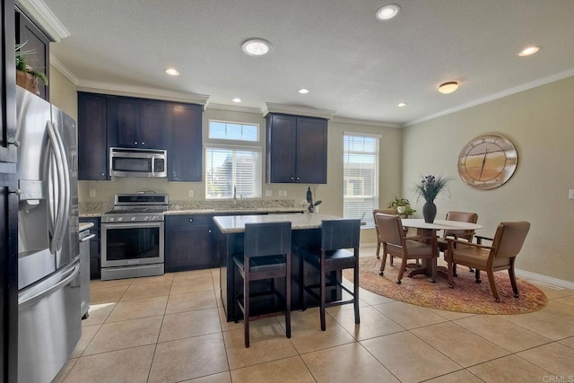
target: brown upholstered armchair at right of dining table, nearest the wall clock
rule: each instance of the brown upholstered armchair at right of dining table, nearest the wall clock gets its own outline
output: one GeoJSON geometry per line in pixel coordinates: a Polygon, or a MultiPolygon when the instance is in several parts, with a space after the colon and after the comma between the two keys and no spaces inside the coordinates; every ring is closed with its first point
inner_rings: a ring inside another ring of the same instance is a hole
{"type": "Polygon", "coordinates": [[[501,222],[493,239],[475,236],[478,243],[469,243],[464,240],[447,239],[448,247],[445,257],[448,262],[448,287],[454,287],[453,265],[467,265],[476,270],[476,283],[480,283],[480,272],[488,274],[494,300],[499,302],[500,296],[494,281],[494,272],[509,271],[510,284],[514,297],[518,298],[518,286],[514,274],[516,257],[530,230],[529,222],[501,222]],[[483,239],[490,240],[491,246],[482,244],[483,239]],[[455,246],[456,245],[456,246],[455,246]]]}

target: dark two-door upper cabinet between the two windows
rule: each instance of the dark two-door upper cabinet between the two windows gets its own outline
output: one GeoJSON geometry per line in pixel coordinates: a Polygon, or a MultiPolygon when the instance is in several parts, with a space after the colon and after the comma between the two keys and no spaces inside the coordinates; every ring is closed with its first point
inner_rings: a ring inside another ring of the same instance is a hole
{"type": "Polygon", "coordinates": [[[327,120],[269,113],[266,182],[326,184],[327,120]]]}

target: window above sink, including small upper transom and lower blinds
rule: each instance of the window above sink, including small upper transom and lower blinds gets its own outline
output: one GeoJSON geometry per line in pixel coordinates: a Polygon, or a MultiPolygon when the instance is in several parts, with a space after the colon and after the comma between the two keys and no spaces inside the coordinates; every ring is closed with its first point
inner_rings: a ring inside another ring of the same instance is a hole
{"type": "Polygon", "coordinates": [[[258,135],[257,125],[209,122],[213,144],[205,145],[205,198],[261,197],[262,150],[241,144],[254,144],[258,135]]]}

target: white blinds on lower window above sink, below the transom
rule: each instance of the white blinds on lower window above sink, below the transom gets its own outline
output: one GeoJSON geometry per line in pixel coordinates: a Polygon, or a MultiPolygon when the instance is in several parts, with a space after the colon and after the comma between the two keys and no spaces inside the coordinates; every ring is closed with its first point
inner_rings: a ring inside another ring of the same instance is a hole
{"type": "Polygon", "coordinates": [[[261,151],[248,148],[205,148],[205,197],[259,198],[261,196],[261,151]]]}

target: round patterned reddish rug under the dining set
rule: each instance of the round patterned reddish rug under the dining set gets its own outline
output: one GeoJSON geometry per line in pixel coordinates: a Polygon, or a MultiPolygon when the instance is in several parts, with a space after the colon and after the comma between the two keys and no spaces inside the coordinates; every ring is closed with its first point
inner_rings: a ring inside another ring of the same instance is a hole
{"type": "MultiPolygon", "coordinates": [[[[520,297],[514,298],[506,271],[495,273],[500,294],[500,302],[497,303],[492,296],[486,273],[481,273],[483,283],[475,283],[474,273],[470,273],[464,265],[458,266],[455,288],[449,289],[447,275],[443,273],[438,273],[437,283],[431,283],[431,278],[425,275],[409,278],[404,273],[402,283],[396,284],[398,259],[395,259],[394,266],[388,265],[387,260],[384,276],[378,274],[380,260],[376,257],[361,257],[359,262],[359,284],[363,289],[426,308],[473,314],[524,314],[544,308],[547,302],[544,292],[519,278],[517,285],[520,297]]],[[[344,270],[344,277],[352,281],[352,270],[344,270]]]]}

